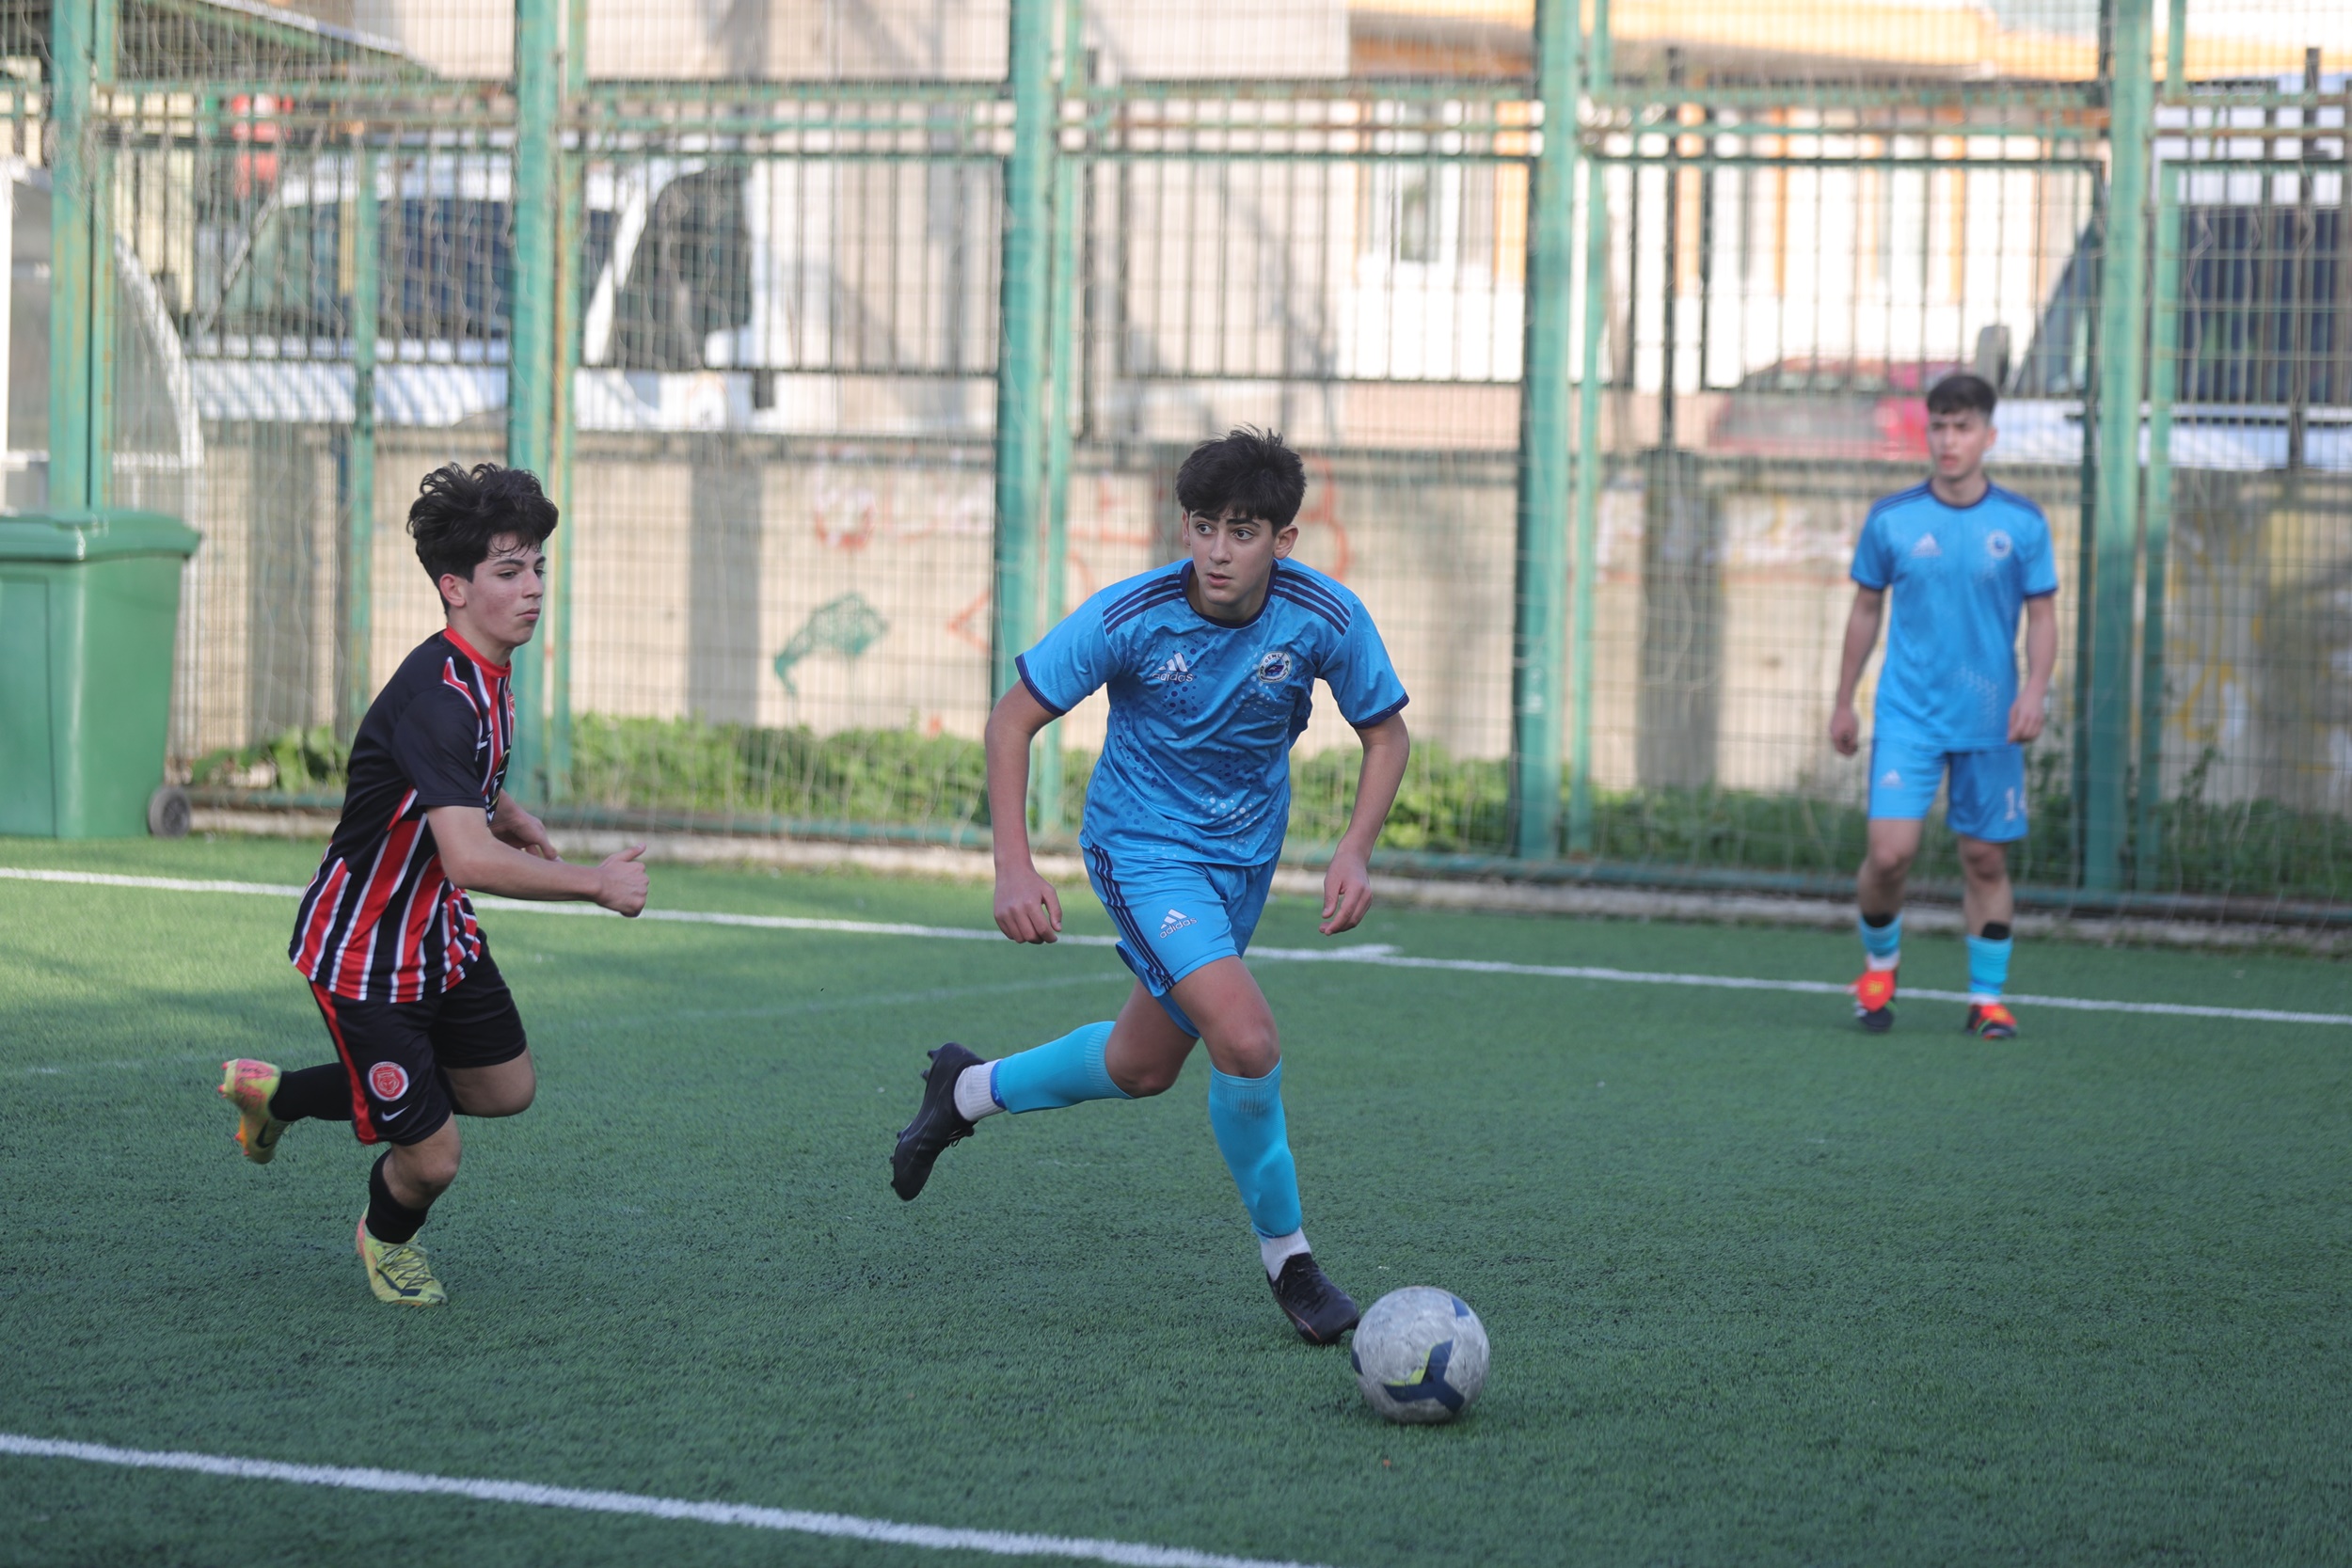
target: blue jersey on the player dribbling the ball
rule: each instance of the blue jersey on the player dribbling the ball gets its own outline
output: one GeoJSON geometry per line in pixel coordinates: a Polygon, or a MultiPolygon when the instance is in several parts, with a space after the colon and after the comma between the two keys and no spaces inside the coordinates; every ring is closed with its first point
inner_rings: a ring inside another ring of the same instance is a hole
{"type": "Polygon", "coordinates": [[[1018,658],[1049,712],[1110,689],[1110,729],[1087,785],[1080,842],[1209,865],[1263,865],[1291,816],[1291,745],[1315,682],[1348,724],[1404,708],[1364,602],[1296,562],[1275,562],[1265,607],[1244,625],[1185,599],[1192,562],[1112,583],[1018,658]]]}

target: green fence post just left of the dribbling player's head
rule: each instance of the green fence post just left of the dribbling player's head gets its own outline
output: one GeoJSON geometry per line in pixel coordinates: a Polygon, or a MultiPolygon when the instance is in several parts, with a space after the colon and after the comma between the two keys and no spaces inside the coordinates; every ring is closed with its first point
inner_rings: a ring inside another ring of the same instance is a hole
{"type": "Polygon", "coordinates": [[[997,520],[988,698],[1037,635],[1037,491],[1044,468],[1044,301],[1054,221],[1054,0],[1011,0],[1014,153],[1004,165],[997,301],[997,520]]]}

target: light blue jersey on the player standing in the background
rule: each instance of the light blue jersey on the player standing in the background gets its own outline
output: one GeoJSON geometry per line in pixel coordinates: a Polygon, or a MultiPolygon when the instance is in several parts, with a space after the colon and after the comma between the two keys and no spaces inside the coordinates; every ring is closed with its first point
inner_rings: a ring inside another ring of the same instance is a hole
{"type": "Polygon", "coordinates": [[[1893,590],[1875,733],[1933,752],[2009,745],[2018,614],[2058,592],[2042,508],[1999,484],[1976,505],[1945,505],[1926,484],[1886,496],[1863,524],[1853,581],[1893,590]]]}

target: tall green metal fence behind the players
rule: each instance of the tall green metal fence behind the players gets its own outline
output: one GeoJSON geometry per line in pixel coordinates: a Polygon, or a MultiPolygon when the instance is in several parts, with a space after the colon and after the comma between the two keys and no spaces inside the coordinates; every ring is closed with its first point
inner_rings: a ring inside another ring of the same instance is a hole
{"type": "MultiPolygon", "coordinates": [[[[1392,849],[1830,886],[1846,562],[1966,367],[2067,567],[2020,875],[2352,900],[2347,94],[2296,47],[2352,19],[706,9],[0,7],[7,501],[205,529],[200,788],[334,792],[437,621],[414,482],[501,458],[564,508],[522,792],[983,832],[1011,654],[1251,421],[1414,691],[1392,849]]],[[[1047,832],[1098,738],[1042,743],[1047,832]]]]}

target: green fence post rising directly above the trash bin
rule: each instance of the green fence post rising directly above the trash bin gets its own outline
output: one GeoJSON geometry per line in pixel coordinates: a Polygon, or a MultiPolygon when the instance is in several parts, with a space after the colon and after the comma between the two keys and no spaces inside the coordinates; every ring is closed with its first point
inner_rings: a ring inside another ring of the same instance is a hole
{"type": "Polygon", "coordinates": [[[89,87],[96,45],[94,0],[56,0],[49,12],[49,120],[56,158],[49,169],[49,505],[99,505],[92,451],[96,343],[99,219],[92,176],[89,87]]]}

